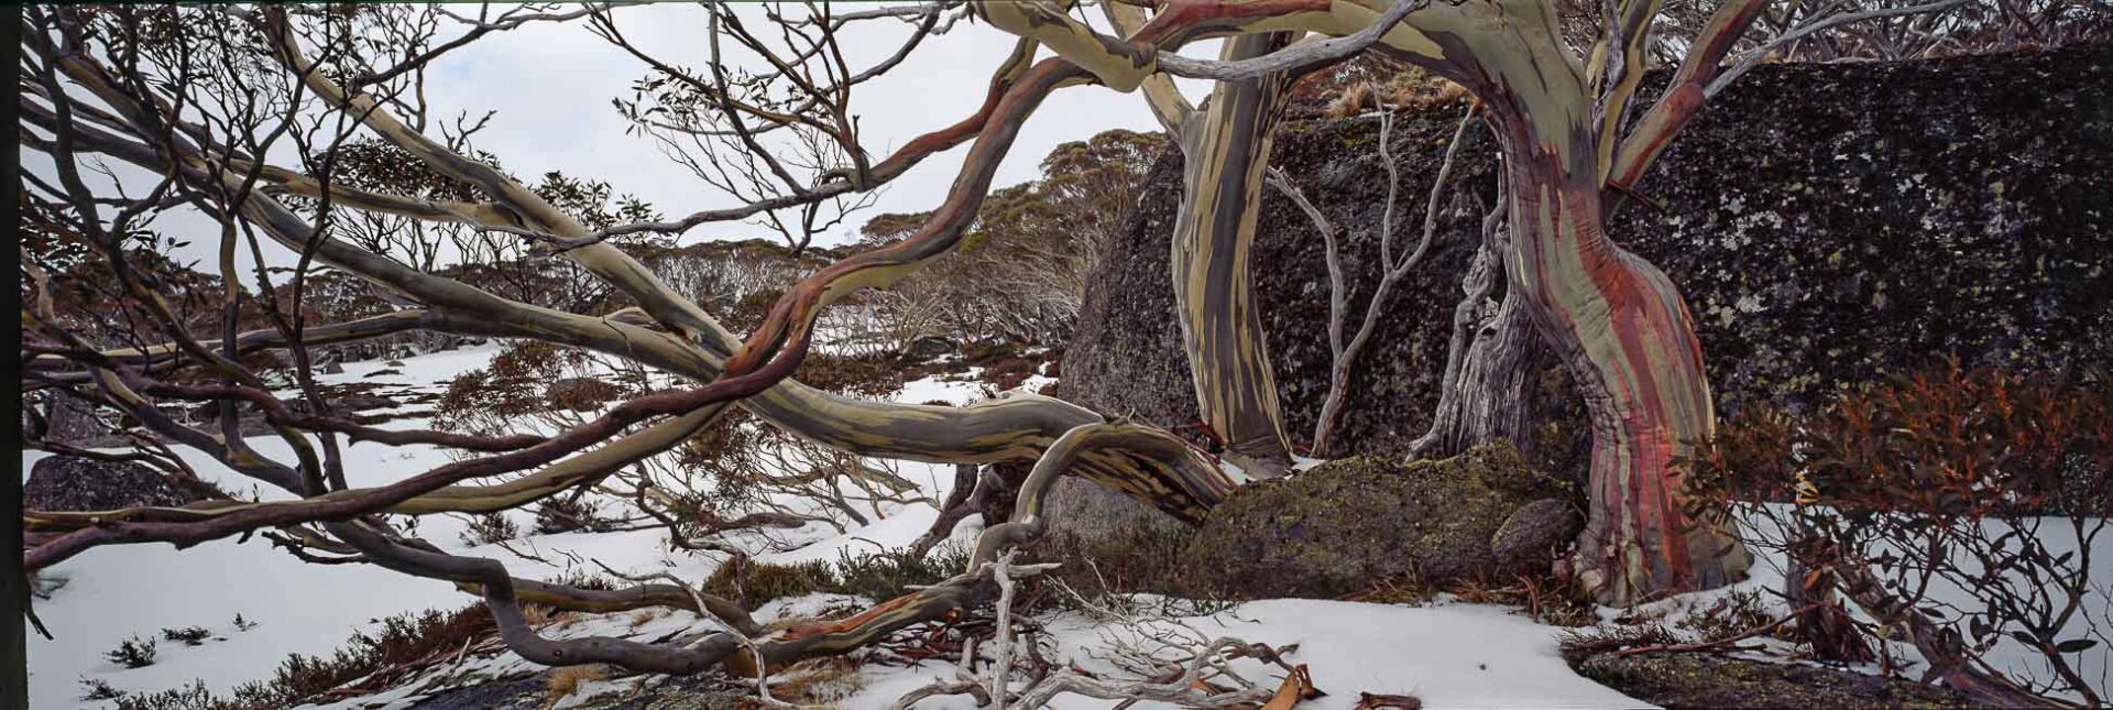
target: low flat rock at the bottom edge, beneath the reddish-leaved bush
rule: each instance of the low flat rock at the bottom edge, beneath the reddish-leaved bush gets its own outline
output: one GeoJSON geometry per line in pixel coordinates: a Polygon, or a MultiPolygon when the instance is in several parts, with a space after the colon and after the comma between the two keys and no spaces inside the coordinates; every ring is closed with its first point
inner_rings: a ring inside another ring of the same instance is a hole
{"type": "Polygon", "coordinates": [[[1602,653],[1578,674],[1663,708],[1971,708],[1933,685],[1707,653],[1602,653]]]}

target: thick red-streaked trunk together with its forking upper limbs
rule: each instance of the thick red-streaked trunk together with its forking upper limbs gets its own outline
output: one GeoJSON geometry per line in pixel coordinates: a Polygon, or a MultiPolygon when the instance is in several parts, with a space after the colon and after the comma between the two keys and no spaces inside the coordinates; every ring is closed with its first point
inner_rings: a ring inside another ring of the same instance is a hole
{"type": "MultiPolygon", "coordinates": [[[[1688,68],[1714,66],[1722,55],[1709,49],[1737,36],[1754,6],[1728,2],[1688,68]]],[[[1623,8],[1650,15],[1654,4],[1623,8]]],[[[1623,13],[1619,25],[1629,25],[1631,15],[1623,13]]],[[[1616,142],[1614,125],[1642,70],[1631,46],[1644,40],[1640,27],[1616,30],[1591,72],[1564,49],[1553,13],[1538,2],[1433,8],[1418,30],[1439,51],[1401,51],[1462,82],[1490,110],[1511,197],[1504,270],[1591,414],[1591,511],[1574,566],[1578,581],[1610,604],[1724,585],[1750,562],[1722,520],[1688,513],[1671,469],[1716,425],[1686,302],[1659,268],[1621,249],[1604,228],[1608,175],[1616,165],[1631,173],[1648,165],[1648,156],[1627,152],[1652,148],[1631,144],[1663,146],[1684,118],[1680,106],[1695,108],[1661,101],[1646,114],[1646,131],[1616,142]],[[1488,19],[1500,19],[1507,32],[1488,32],[1488,19]],[[1608,91],[1600,91],[1602,70],[1608,91]]],[[[1688,68],[1682,78],[1707,74],[1688,68]]],[[[1682,87],[1669,101],[1686,95],[1682,87]]]]}

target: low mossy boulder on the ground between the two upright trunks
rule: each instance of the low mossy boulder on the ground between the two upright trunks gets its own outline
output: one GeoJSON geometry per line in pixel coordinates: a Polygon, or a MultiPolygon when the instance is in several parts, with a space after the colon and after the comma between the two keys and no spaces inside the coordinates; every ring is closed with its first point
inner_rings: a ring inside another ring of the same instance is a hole
{"type": "Polygon", "coordinates": [[[1555,490],[1502,442],[1409,465],[1331,461],[1249,484],[1213,509],[1183,552],[1188,583],[1232,598],[1340,598],[1545,571],[1553,556],[1500,560],[1492,539],[1555,490]]]}

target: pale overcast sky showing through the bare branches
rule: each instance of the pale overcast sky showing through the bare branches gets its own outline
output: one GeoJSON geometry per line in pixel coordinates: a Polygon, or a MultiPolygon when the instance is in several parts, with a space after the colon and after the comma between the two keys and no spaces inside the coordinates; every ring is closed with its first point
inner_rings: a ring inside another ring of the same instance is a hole
{"type": "MultiPolygon", "coordinates": [[[[894,2],[900,4],[900,2],[894,2]]],[[[871,8],[871,2],[839,2],[841,11],[871,8]]],[[[473,6],[456,6],[473,13],[473,6]]],[[[763,34],[765,19],[756,8],[750,27],[763,34]]],[[[706,13],[695,4],[623,6],[615,11],[617,27],[636,46],[668,63],[702,70],[708,61],[706,13]]],[[[1099,23],[1099,13],[1092,13],[1099,23]]],[[[446,27],[452,38],[461,27],[446,27]]],[[[847,61],[862,70],[894,53],[911,32],[909,23],[883,19],[852,23],[841,36],[847,61]]],[[[928,38],[906,61],[854,91],[852,106],[860,135],[875,161],[887,156],[911,137],[970,116],[985,97],[991,70],[1002,61],[1014,38],[989,25],[961,19],[951,32],[928,38]]],[[[1192,55],[1213,55],[1215,42],[1198,44],[1192,55]]],[[[1044,53],[1046,57],[1046,53],[1044,53]]],[[[740,61],[735,61],[740,63],[740,61]]],[[[737,205],[697,180],[687,167],[661,154],[661,146],[640,133],[625,135],[625,118],[611,99],[632,97],[632,82],[647,76],[647,66],[619,46],[592,34],[583,21],[528,23],[499,32],[450,51],[427,74],[429,116],[437,125],[459,112],[497,114],[475,133],[475,148],[499,156],[507,171],[535,180],[545,171],[602,180],[619,194],[636,194],[661,213],[674,218],[697,209],[737,205]]],[[[1207,93],[1202,82],[1183,82],[1192,99],[1207,93]]],[[[1156,131],[1141,95],[1116,93],[1105,87],[1069,87],[1050,95],[1027,120],[1008,158],[997,171],[997,186],[1037,175],[1037,163],[1054,146],[1084,139],[1107,129],[1156,131]]],[[[437,135],[435,135],[437,137],[437,135]]],[[[923,211],[936,207],[953,182],[968,148],[936,154],[892,182],[877,203],[845,224],[820,235],[816,243],[830,245],[856,239],[858,226],[887,211],[923,211]]],[[[27,154],[27,152],[25,152],[27,154]]],[[[279,161],[289,161],[279,158],[279,161]]],[[[42,171],[36,161],[25,167],[42,171]]],[[[158,228],[177,239],[190,239],[184,254],[211,262],[218,243],[211,222],[203,216],[167,216],[158,228]]],[[[778,239],[763,226],[742,222],[706,224],[685,243],[704,239],[778,239]]],[[[285,251],[268,256],[279,262],[285,251]]],[[[247,260],[247,258],[245,258],[247,260]]],[[[289,262],[289,258],[287,258],[289,262]]]]}

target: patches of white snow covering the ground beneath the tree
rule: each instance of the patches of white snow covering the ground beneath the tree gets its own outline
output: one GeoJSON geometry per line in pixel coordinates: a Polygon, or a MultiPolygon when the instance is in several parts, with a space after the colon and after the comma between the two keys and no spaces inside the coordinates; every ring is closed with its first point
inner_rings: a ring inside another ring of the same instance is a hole
{"type": "MultiPolygon", "coordinates": [[[[344,374],[323,376],[323,380],[389,382],[401,391],[437,393],[454,374],[482,368],[494,353],[497,347],[433,353],[410,357],[401,368],[380,361],[349,363],[344,374]],[[382,370],[397,370],[397,374],[372,376],[382,370]]],[[[1035,376],[1023,389],[1033,391],[1046,382],[1048,378],[1035,376]]],[[[972,376],[945,376],[909,382],[894,399],[970,404],[985,395],[985,385],[972,376]]],[[[427,421],[414,416],[391,425],[423,427],[427,421]]],[[[256,437],[251,444],[264,454],[287,454],[283,442],[270,437],[256,437]]],[[[42,456],[25,452],[23,471],[42,456]]],[[[347,450],[347,475],[353,486],[376,486],[446,461],[444,452],[425,446],[357,444],[347,450]]],[[[192,456],[190,463],[201,475],[218,480],[230,490],[254,488],[203,456],[192,456]]],[[[925,486],[925,494],[932,499],[942,499],[953,482],[949,467],[923,463],[898,463],[898,473],[925,486]]],[[[264,497],[283,494],[264,490],[264,497]]],[[[847,549],[871,552],[906,545],[938,516],[930,505],[883,507],[883,513],[873,524],[845,532],[814,524],[799,530],[773,530],[769,541],[748,539],[742,543],[763,552],[761,560],[769,562],[835,560],[847,549]],[[765,547],[765,543],[769,545],[765,547]]],[[[516,516],[524,530],[532,530],[530,516],[516,516]]],[[[516,575],[539,579],[566,573],[564,564],[571,562],[564,560],[573,556],[594,558],[619,571],[670,571],[682,579],[704,579],[716,564],[702,556],[670,554],[661,543],[661,530],[530,535],[509,545],[528,556],[551,560],[541,562],[497,545],[469,545],[459,535],[465,528],[461,518],[431,516],[418,524],[416,532],[450,552],[499,558],[516,575]]],[[[976,520],[968,520],[955,530],[955,537],[968,537],[974,530],[976,520]]],[[[2100,547],[2105,545],[2113,545],[2113,541],[2100,541],[2100,547]]],[[[2113,564],[2113,549],[2100,549],[2096,560],[2113,564]]],[[[1741,587],[1777,585],[1779,573],[1775,568],[1779,564],[1760,564],[1760,575],[1741,587]]],[[[2096,573],[2098,579],[2113,581],[2113,571],[2100,568],[2096,573]]],[[[304,564],[273,549],[262,539],[247,543],[222,539],[184,552],[169,545],[99,547],[55,566],[46,577],[63,577],[66,585],[51,600],[36,600],[36,613],[55,638],[32,636],[30,640],[34,708],[99,706],[78,699],[82,678],[97,678],[125,691],[158,691],[201,678],[209,689],[228,693],[241,683],[268,678],[287,653],[328,655],[344,644],[351,632],[374,625],[378,617],[459,609],[473,602],[448,583],[374,566],[304,564]],[[256,625],[237,630],[235,615],[243,615],[256,625]],[[104,659],[104,651],[114,649],[127,636],[158,640],[163,628],[186,625],[209,628],[216,638],[203,647],[161,640],[156,664],[137,670],[104,659]]],[[[820,606],[820,602],[814,598],[778,602],[759,613],[759,619],[797,615],[803,606],[820,606]]],[[[1673,604],[1695,602],[1699,600],[1673,604]]],[[[1667,609],[1667,613],[1678,615],[1680,611],[1667,609]]],[[[1103,628],[1073,615],[1044,621],[1067,661],[1097,672],[1111,670],[1095,651],[1103,644],[1103,628]]],[[[697,619],[689,613],[657,613],[642,621],[638,615],[602,615],[564,630],[545,630],[545,634],[663,638],[695,628],[695,623],[697,619]]],[[[1428,708],[1640,706],[1638,699],[1576,676],[1557,655],[1562,630],[1534,623],[1500,606],[1264,600],[1230,613],[1188,619],[1188,623],[1213,636],[1240,636],[1276,647],[1297,642],[1299,651],[1291,661],[1306,664],[1314,683],[1331,693],[1308,704],[1310,708],[1350,708],[1361,691],[1418,695],[1428,708]]],[[[2098,649],[2096,653],[2098,666],[2092,668],[2102,668],[2107,651],[2098,649]]],[[[450,668],[442,676],[490,678],[526,668],[507,653],[465,666],[473,668],[450,668]]],[[[427,680],[440,683],[442,676],[427,680]]],[[[915,668],[868,668],[860,691],[847,697],[845,706],[885,708],[911,689],[951,676],[953,666],[947,661],[925,661],[915,668]]],[[[596,685],[590,683],[587,689],[596,689],[596,685]]],[[[378,697],[342,702],[340,708],[408,706],[418,691],[420,685],[414,683],[378,697]]],[[[968,706],[966,697],[940,697],[919,708],[968,706]]],[[[1107,708],[1111,704],[1063,697],[1056,706],[1107,708]]]]}

